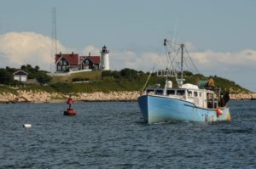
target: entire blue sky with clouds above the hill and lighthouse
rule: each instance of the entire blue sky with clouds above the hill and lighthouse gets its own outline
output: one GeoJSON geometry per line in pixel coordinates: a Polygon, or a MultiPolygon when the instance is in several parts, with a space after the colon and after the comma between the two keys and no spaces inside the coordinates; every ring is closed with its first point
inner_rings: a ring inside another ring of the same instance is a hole
{"type": "Polygon", "coordinates": [[[22,0],[0,6],[0,66],[49,70],[52,8],[58,49],[99,54],[110,67],[149,71],[164,59],[163,39],[188,45],[198,69],[256,91],[256,1],[253,0],[22,0]]]}

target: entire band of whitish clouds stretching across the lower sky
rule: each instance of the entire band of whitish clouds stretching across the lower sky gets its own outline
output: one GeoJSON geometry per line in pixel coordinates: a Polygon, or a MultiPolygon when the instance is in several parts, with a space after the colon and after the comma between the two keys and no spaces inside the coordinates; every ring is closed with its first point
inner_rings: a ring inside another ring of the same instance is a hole
{"type": "MultiPolygon", "coordinates": [[[[195,65],[204,75],[229,76],[237,78],[237,72],[246,70],[256,71],[256,51],[244,49],[238,52],[215,52],[211,50],[196,52],[195,46],[189,42],[185,43],[195,65]]],[[[73,50],[64,47],[58,42],[58,51],[71,53],[73,50]]],[[[10,32],[0,35],[0,67],[16,67],[30,64],[38,65],[41,70],[49,70],[49,55],[51,39],[34,32],[10,32]]],[[[79,55],[100,55],[100,49],[93,45],[84,47],[81,51],[74,51],[79,55]]],[[[164,53],[164,51],[163,51],[164,53]]],[[[110,69],[121,70],[131,68],[135,70],[150,71],[161,69],[166,66],[164,54],[148,53],[126,50],[117,51],[110,49],[110,69]],[[163,66],[163,67],[160,67],[163,66]]],[[[250,78],[250,77],[248,77],[250,78]]]]}

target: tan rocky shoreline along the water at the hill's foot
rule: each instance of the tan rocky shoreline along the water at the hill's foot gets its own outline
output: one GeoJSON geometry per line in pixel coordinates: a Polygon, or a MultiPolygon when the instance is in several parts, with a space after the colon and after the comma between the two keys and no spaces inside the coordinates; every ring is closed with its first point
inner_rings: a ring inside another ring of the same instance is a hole
{"type": "MultiPolygon", "coordinates": [[[[110,92],[110,93],[76,93],[73,95],[73,100],[85,102],[100,102],[100,101],[137,101],[140,92],[110,92]]],[[[65,102],[68,95],[61,93],[47,93],[35,91],[17,91],[13,93],[0,93],[0,103],[56,103],[65,102]]],[[[252,100],[256,99],[256,93],[240,93],[230,94],[231,100],[252,100]]]]}

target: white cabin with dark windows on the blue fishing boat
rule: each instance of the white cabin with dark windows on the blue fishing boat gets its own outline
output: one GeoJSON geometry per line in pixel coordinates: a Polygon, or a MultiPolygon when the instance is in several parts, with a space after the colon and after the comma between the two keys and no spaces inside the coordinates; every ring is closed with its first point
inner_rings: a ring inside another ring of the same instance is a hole
{"type": "MultiPolygon", "coordinates": [[[[186,85],[186,84],[185,84],[186,85]]],[[[205,109],[216,109],[218,108],[218,97],[216,94],[207,89],[199,89],[195,87],[186,87],[183,85],[182,88],[148,88],[145,94],[158,95],[162,97],[168,97],[172,99],[182,99],[195,104],[197,107],[205,109]]]]}

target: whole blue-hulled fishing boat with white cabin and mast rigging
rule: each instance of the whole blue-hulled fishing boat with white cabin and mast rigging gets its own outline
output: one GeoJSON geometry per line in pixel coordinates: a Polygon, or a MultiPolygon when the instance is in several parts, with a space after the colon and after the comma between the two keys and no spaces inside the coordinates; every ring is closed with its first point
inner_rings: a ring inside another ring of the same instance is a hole
{"type": "Polygon", "coordinates": [[[137,99],[143,120],[149,124],[172,121],[230,121],[230,109],[227,106],[229,93],[215,87],[212,78],[197,84],[183,84],[183,53],[186,48],[184,44],[178,44],[179,49],[175,49],[175,53],[180,51],[181,56],[178,70],[174,66],[177,60],[170,51],[173,49],[171,44],[171,41],[165,39],[169,67],[157,73],[166,77],[165,86],[148,87],[137,99]],[[171,77],[176,80],[177,87],[172,87],[171,77]]]}

